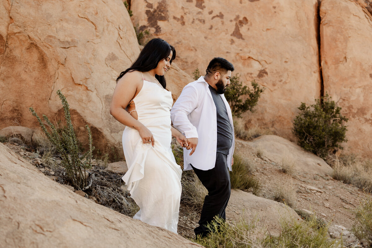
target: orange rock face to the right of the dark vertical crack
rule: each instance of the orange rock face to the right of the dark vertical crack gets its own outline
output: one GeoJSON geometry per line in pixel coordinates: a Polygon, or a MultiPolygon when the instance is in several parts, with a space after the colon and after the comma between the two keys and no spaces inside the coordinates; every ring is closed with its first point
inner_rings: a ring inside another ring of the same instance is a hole
{"type": "Polygon", "coordinates": [[[372,16],[352,0],[323,0],[320,15],[324,92],[349,118],[346,152],[371,157],[372,16]]]}

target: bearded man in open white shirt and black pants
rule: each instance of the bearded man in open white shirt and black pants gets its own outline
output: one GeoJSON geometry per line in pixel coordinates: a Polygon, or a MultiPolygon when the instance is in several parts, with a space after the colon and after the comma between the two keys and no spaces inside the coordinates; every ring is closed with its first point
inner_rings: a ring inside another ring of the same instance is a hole
{"type": "Polygon", "coordinates": [[[210,232],[206,225],[215,216],[226,218],[235,140],[231,109],[224,93],[232,71],[234,66],[226,59],[212,59],[205,76],[183,88],[170,112],[174,127],[187,138],[184,170],[193,169],[208,190],[199,226],[194,230],[197,236],[210,232]]]}

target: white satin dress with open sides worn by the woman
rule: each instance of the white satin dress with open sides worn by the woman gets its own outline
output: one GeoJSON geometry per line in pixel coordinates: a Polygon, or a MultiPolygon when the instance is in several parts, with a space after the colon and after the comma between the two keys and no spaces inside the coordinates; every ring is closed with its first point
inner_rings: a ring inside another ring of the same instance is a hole
{"type": "Polygon", "coordinates": [[[122,142],[128,171],[122,179],[140,206],[133,218],[177,233],[182,170],[170,147],[171,92],[144,80],[133,101],[138,121],[153,133],[155,141],[154,147],[143,144],[136,129],[124,129],[122,142]]]}

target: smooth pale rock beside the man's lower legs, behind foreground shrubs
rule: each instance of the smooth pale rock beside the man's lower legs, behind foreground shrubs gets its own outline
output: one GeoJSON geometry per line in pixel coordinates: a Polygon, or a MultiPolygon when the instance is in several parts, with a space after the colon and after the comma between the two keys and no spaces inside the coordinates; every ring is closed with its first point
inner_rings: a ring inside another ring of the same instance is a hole
{"type": "MultiPolygon", "coordinates": [[[[280,233],[280,221],[302,220],[295,210],[283,203],[265,199],[241,190],[231,190],[226,208],[228,219],[238,221],[240,218],[256,223],[257,227],[266,227],[273,235],[280,233]]],[[[266,230],[265,230],[266,231],[266,230]]]]}

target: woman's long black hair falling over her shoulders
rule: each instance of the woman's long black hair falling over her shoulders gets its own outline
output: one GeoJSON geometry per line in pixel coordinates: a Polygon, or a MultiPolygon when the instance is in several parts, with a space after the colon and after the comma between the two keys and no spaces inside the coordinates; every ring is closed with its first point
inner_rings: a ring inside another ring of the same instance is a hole
{"type": "MultiPolygon", "coordinates": [[[[122,71],[118,78],[116,78],[116,83],[118,83],[119,79],[122,78],[125,73],[128,71],[150,71],[155,69],[158,66],[158,63],[169,56],[170,51],[173,52],[172,58],[170,59],[169,63],[172,64],[174,58],[176,58],[176,49],[173,46],[169,45],[168,42],[164,41],[160,38],[155,38],[149,41],[145,47],[138,55],[138,58],[131,67],[122,71]]],[[[155,74],[155,78],[159,81],[163,88],[166,87],[166,80],[164,76],[159,76],[155,74]]]]}

